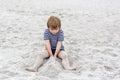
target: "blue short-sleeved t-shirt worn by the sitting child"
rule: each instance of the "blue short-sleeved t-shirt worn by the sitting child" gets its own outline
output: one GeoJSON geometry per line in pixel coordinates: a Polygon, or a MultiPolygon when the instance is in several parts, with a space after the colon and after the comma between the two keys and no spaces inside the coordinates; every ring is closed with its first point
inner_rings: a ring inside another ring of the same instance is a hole
{"type": "MultiPolygon", "coordinates": [[[[44,32],[44,40],[49,40],[52,52],[56,50],[57,42],[64,41],[64,33],[63,30],[60,29],[56,34],[52,34],[49,29],[46,29],[44,32]]],[[[64,46],[62,44],[61,49],[64,50],[64,46]]]]}

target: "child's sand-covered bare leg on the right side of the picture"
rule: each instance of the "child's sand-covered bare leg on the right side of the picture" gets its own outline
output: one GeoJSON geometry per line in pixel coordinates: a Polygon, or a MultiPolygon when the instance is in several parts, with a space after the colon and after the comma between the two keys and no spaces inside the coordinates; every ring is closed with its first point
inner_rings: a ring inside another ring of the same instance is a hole
{"type": "Polygon", "coordinates": [[[63,67],[65,69],[67,69],[67,70],[76,70],[76,68],[70,67],[69,60],[68,60],[68,55],[67,55],[67,53],[65,51],[60,51],[58,57],[62,59],[62,64],[63,64],[63,67]]]}

